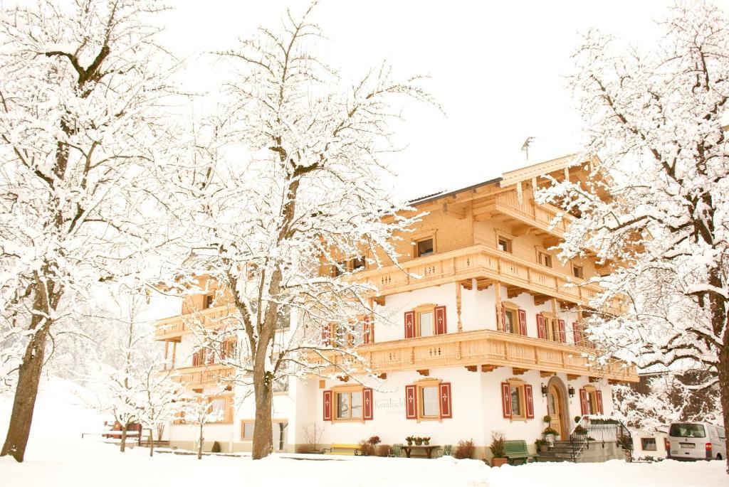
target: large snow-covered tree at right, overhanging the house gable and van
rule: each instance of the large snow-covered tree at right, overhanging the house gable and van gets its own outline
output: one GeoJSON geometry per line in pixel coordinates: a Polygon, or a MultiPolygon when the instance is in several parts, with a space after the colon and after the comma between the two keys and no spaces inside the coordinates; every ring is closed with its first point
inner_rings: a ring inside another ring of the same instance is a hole
{"type": "Polygon", "coordinates": [[[706,372],[695,387],[719,384],[729,429],[729,20],[681,1],[662,25],[650,52],[585,35],[572,85],[589,139],[576,162],[601,162],[541,201],[582,217],[563,258],[593,249],[612,266],[593,305],[622,298],[625,314],[593,314],[592,337],[644,367],[706,372]]]}

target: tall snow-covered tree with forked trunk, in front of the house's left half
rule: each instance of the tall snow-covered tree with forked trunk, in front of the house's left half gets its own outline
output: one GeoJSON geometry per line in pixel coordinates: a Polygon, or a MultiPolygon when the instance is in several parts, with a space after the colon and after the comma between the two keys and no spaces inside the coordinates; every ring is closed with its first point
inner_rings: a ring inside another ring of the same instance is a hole
{"type": "Polygon", "coordinates": [[[317,52],[310,14],[287,12],[280,31],[260,28],[219,53],[236,68],[231,109],[208,121],[196,144],[195,160],[207,158],[211,176],[198,189],[192,234],[200,243],[185,275],[211,276],[222,285],[217,304],[230,304],[222,328],[198,327],[198,336],[235,368],[227,380],[252,386],[254,459],[271,451],[276,381],[324,373],[333,357],[339,375],[356,363],[373,288],[351,275],[365,260],[395,261],[393,232],[414,218],[382,189],[381,155],[392,149],[401,108],[393,103],[432,103],[417,76],[398,81],[386,63],[343,87],[317,52]],[[224,352],[225,341],[237,341],[235,353],[224,352]]]}

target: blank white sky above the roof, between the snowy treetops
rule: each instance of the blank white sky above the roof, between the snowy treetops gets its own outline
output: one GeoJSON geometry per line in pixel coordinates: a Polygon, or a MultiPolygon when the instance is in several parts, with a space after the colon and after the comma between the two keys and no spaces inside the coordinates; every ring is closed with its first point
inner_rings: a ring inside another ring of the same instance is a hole
{"type": "MultiPolygon", "coordinates": [[[[177,55],[225,50],[257,25],[278,27],[302,0],[176,0],[165,13],[163,42],[177,55]]],[[[719,2],[729,9],[729,0],[719,2]]],[[[521,145],[534,136],[529,162],[574,152],[580,119],[564,75],[588,27],[650,48],[654,20],[667,1],[322,0],[313,20],[330,41],[332,66],[355,79],[381,60],[396,73],[429,74],[426,87],[443,106],[408,106],[399,127],[407,147],[388,157],[406,197],[455,189],[526,165],[521,145]]],[[[203,70],[190,83],[206,87],[203,70]]]]}

